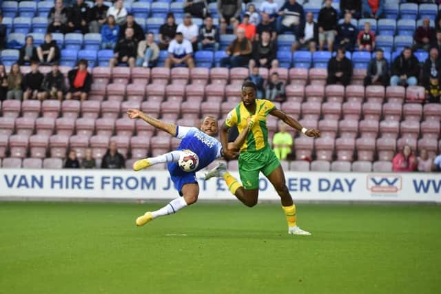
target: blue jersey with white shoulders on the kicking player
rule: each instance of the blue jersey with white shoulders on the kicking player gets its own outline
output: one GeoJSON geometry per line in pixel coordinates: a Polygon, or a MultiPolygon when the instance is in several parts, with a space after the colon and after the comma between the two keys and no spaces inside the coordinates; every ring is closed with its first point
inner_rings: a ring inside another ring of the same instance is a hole
{"type": "Polygon", "coordinates": [[[203,169],[220,157],[222,144],[196,127],[176,127],[176,138],[181,139],[178,150],[190,149],[197,154],[199,165],[196,171],[203,169]]]}

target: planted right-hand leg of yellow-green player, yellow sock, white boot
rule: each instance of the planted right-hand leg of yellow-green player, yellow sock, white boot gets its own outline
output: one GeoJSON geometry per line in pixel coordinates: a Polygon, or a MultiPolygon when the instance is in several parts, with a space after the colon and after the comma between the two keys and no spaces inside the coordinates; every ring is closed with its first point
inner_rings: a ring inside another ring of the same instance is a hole
{"type": "Polygon", "coordinates": [[[288,233],[293,235],[311,235],[311,233],[303,231],[297,226],[296,205],[294,204],[285,183],[285,174],[283,173],[282,166],[279,165],[267,176],[267,178],[273,185],[274,189],[276,189],[278,196],[280,196],[282,209],[285,211],[285,216],[287,217],[288,233]]]}

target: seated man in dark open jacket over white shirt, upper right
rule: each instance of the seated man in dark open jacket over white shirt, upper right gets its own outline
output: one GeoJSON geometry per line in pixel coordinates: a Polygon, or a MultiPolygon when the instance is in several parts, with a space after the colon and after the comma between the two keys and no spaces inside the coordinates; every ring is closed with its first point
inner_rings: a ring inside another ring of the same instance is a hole
{"type": "Polygon", "coordinates": [[[303,25],[304,28],[298,30],[296,41],[291,46],[291,52],[295,52],[299,48],[306,48],[309,52],[314,53],[318,43],[318,25],[314,22],[314,14],[312,12],[306,14],[306,21],[303,25]]]}

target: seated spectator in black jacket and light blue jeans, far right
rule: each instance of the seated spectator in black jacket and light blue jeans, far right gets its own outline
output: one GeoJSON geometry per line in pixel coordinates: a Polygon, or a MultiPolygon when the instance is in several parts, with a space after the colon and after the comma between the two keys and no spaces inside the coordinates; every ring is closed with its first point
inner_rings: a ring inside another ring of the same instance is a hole
{"type": "Polygon", "coordinates": [[[420,64],[411,48],[406,47],[391,65],[391,86],[414,86],[418,84],[420,64]]]}

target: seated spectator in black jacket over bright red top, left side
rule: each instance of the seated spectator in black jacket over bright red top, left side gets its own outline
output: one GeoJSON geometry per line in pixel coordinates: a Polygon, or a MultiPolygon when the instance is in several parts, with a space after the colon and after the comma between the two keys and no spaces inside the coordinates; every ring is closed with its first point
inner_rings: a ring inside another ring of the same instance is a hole
{"type": "Polygon", "coordinates": [[[81,101],[87,100],[92,86],[92,74],[88,72],[88,61],[80,59],[78,68],[68,72],[68,80],[69,90],[66,99],[79,98],[81,101]]]}

